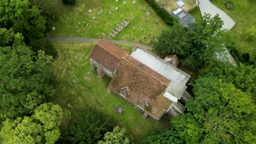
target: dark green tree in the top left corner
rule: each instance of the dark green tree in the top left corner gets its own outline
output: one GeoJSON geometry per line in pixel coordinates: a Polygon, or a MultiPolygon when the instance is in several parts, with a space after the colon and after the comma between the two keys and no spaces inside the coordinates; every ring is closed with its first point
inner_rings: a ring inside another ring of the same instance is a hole
{"type": "Polygon", "coordinates": [[[33,39],[44,37],[45,23],[40,10],[31,7],[28,0],[0,1],[0,27],[21,33],[27,44],[33,39]]]}

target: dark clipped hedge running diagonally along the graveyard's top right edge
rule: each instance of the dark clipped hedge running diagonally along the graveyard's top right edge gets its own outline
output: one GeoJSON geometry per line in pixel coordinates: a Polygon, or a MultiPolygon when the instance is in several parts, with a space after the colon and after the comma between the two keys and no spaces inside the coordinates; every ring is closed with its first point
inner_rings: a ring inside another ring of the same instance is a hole
{"type": "Polygon", "coordinates": [[[145,0],[150,7],[152,7],[156,14],[158,14],[162,20],[165,21],[167,25],[173,26],[173,23],[177,22],[177,18],[170,15],[167,11],[165,11],[163,8],[159,7],[159,5],[155,2],[155,0],[145,0]]]}

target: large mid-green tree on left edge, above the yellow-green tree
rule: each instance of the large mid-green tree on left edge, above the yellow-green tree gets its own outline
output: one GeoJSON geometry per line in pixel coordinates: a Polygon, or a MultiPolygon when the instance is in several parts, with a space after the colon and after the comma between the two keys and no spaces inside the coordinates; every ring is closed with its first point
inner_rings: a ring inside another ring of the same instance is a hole
{"type": "Polygon", "coordinates": [[[47,68],[51,59],[26,46],[0,46],[0,120],[30,115],[53,99],[55,77],[47,68]]]}

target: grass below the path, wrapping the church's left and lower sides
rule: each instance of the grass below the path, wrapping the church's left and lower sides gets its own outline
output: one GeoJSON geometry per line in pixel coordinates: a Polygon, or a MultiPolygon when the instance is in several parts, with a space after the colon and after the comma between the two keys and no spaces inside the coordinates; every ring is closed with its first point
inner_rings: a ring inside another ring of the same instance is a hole
{"type": "MultiPolygon", "coordinates": [[[[99,111],[113,117],[118,125],[125,127],[127,134],[135,136],[136,141],[148,131],[160,130],[170,126],[170,119],[167,117],[158,122],[152,118],[144,119],[142,117],[143,113],[137,110],[135,106],[107,91],[110,79],[99,79],[96,71],[90,68],[89,55],[95,43],[53,42],[53,45],[59,52],[59,57],[50,65],[50,68],[54,71],[59,82],[56,87],[55,102],[62,109],[72,111],[74,107],[87,109],[89,106],[96,106],[99,111]],[[94,78],[88,75],[89,71],[95,75],[94,78]],[[67,80],[73,75],[79,81],[71,86],[67,80]],[[91,81],[86,81],[85,76],[88,76],[91,81]],[[117,104],[124,109],[123,115],[114,111],[117,104]]],[[[127,48],[126,45],[124,46],[127,48]]],[[[62,127],[65,127],[63,123],[62,127]]]]}

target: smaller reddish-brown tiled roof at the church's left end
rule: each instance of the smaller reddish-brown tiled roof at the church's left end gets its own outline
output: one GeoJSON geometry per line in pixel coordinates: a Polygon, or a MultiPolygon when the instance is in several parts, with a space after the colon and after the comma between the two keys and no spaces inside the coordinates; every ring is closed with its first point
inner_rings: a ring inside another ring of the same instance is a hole
{"type": "Polygon", "coordinates": [[[96,43],[91,51],[90,58],[110,71],[117,69],[121,57],[129,53],[115,45],[108,39],[102,39],[96,43]]]}

